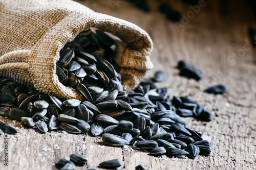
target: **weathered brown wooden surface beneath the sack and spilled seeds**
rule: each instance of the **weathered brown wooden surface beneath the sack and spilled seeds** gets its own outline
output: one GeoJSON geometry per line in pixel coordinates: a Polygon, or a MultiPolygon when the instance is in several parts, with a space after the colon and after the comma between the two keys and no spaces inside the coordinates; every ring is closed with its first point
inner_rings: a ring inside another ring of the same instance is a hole
{"type": "Polygon", "coordinates": [[[100,137],[60,131],[41,134],[9,120],[19,128],[19,133],[9,135],[8,167],[3,163],[4,138],[0,137],[0,169],[56,169],[54,162],[73,153],[89,158],[86,166],[76,169],[96,167],[115,158],[124,161],[120,169],[129,170],[139,164],[152,169],[256,169],[256,48],[249,46],[247,33],[249,27],[256,25],[253,11],[247,5],[238,0],[206,0],[205,7],[193,16],[189,5],[181,0],[165,1],[185,16],[190,14],[177,29],[176,23],[158,11],[160,1],[149,0],[148,13],[123,0],[78,2],[97,12],[131,21],[150,34],[155,67],[146,77],[164,70],[166,79],[158,87],[168,87],[171,97],[188,95],[214,111],[214,119],[209,123],[185,118],[188,128],[200,130],[211,138],[212,152],[195,159],[154,157],[131,147],[101,145],[100,137]],[[182,59],[202,70],[201,81],[178,75],[175,66],[182,59]],[[224,95],[203,92],[205,87],[219,83],[227,86],[224,95]]]}

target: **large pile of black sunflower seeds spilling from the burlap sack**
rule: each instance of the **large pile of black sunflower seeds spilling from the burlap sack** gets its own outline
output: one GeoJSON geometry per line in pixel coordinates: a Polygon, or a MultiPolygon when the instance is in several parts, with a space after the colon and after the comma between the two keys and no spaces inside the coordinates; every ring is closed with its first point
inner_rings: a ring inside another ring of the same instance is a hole
{"type": "Polygon", "coordinates": [[[0,115],[42,133],[57,129],[73,134],[90,131],[93,136],[102,135],[106,145],[134,144],[152,155],[195,158],[209,154],[209,141],[202,139],[201,132],[186,128],[181,116],[209,121],[211,111],[187,97],[174,96],[171,100],[167,88],[156,88],[148,80],[142,80],[130,93],[123,91],[114,49],[115,40],[108,34],[81,32],[61,50],[56,74],[84,101],[60,100],[2,79],[0,115]]]}

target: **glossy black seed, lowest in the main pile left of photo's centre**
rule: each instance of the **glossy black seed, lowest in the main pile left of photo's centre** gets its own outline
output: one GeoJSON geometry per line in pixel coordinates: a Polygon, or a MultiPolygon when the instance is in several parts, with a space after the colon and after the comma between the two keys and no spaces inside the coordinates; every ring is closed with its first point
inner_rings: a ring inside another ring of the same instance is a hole
{"type": "Polygon", "coordinates": [[[102,135],[102,141],[104,144],[112,147],[122,147],[125,144],[129,144],[129,141],[126,138],[110,133],[104,133],[102,135]]]}

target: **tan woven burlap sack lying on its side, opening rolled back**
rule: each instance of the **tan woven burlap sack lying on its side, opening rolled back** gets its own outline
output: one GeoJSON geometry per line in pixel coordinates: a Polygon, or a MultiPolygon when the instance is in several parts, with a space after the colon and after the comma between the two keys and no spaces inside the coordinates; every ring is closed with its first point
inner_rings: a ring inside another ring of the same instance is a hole
{"type": "Polygon", "coordinates": [[[58,81],[55,68],[65,43],[90,27],[127,43],[117,59],[124,90],[132,90],[153,67],[153,43],[144,30],[70,0],[0,0],[0,18],[0,56],[7,54],[0,58],[0,76],[33,84],[44,93],[81,99],[77,91],[58,81]]]}

